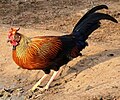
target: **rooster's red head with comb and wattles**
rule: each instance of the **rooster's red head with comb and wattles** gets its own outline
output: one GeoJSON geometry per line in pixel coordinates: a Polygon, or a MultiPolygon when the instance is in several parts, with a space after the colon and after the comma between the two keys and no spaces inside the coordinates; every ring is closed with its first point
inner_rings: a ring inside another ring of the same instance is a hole
{"type": "Polygon", "coordinates": [[[7,42],[10,42],[13,46],[17,46],[21,40],[21,35],[18,33],[20,28],[11,28],[11,30],[8,33],[8,40],[7,42]]]}

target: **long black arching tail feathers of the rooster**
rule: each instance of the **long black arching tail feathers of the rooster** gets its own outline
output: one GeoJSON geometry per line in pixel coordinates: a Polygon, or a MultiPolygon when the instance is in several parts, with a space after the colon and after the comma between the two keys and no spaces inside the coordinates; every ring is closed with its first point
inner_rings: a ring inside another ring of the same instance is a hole
{"type": "Polygon", "coordinates": [[[108,14],[95,12],[100,9],[108,9],[106,5],[99,5],[89,10],[75,25],[72,35],[79,41],[86,41],[88,36],[100,27],[100,20],[106,19],[118,23],[115,18],[108,14]]]}

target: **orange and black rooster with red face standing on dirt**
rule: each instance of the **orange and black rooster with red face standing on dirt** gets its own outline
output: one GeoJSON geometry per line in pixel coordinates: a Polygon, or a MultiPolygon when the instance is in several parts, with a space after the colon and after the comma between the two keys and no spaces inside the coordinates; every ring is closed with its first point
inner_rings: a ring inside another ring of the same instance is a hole
{"type": "Polygon", "coordinates": [[[96,12],[108,9],[106,5],[99,5],[89,10],[75,25],[69,35],[37,36],[29,38],[19,33],[19,29],[11,28],[8,42],[13,46],[12,57],[17,65],[29,70],[43,70],[45,75],[32,87],[32,91],[45,80],[51,70],[54,70],[47,85],[41,90],[48,89],[51,82],[60,74],[62,65],[81,55],[88,43],[88,36],[100,27],[100,20],[106,19],[118,23],[108,14],[96,12]]]}

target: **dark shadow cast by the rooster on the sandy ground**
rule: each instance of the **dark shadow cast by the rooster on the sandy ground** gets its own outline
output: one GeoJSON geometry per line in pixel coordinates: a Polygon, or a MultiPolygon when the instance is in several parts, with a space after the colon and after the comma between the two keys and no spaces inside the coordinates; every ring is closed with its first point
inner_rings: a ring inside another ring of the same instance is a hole
{"type": "Polygon", "coordinates": [[[64,78],[65,76],[75,73],[78,75],[83,70],[86,70],[88,68],[92,68],[95,65],[98,65],[100,63],[103,63],[105,61],[108,61],[112,58],[119,57],[120,56],[120,49],[111,49],[111,50],[104,50],[102,52],[99,52],[94,55],[90,55],[87,57],[83,57],[83,59],[80,59],[75,65],[68,66],[66,74],[61,75],[61,78],[64,78]]]}

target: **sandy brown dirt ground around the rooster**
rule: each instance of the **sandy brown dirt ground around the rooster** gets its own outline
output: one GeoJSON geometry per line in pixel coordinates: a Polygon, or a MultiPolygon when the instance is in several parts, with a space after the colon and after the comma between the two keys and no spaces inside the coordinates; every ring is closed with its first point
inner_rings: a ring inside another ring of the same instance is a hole
{"type": "Polygon", "coordinates": [[[120,23],[101,21],[83,56],[64,66],[43,93],[28,90],[44,73],[19,68],[6,42],[11,27],[20,27],[27,36],[69,34],[99,4],[108,5],[102,12],[120,22],[119,0],[0,0],[0,100],[120,100],[120,23]]]}

